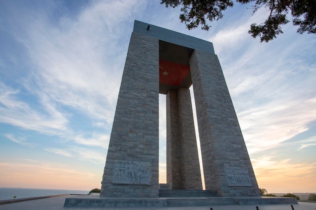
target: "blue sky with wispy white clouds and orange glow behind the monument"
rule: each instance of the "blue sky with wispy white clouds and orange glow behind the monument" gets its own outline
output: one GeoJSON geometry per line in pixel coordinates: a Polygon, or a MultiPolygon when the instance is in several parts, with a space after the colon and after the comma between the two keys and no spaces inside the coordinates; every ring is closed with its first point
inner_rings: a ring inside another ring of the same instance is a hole
{"type": "Polygon", "coordinates": [[[260,188],[316,192],[316,36],[289,23],[260,43],[247,32],[269,12],[250,6],[235,3],[209,31],[188,31],[180,8],[159,0],[0,0],[0,187],[100,188],[138,20],[213,43],[260,188]]]}

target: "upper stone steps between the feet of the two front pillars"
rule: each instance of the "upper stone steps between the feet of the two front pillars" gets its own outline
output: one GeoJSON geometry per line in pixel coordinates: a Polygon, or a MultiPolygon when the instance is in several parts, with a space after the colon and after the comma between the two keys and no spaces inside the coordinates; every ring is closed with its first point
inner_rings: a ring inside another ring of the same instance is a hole
{"type": "Polygon", "coordinates": [[[159,197],[217,197],[217,195],[210,190],[159,190],[159,197]]]}

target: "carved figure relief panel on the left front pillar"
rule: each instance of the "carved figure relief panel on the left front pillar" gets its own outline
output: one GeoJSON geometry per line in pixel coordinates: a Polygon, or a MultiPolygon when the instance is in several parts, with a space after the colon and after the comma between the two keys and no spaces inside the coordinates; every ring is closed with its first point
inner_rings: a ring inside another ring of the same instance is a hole
{"type": "Polygon", "coordinates": [[[114,166],[113,184],[150,185],[150,163],[118,161],[114,166]]]}

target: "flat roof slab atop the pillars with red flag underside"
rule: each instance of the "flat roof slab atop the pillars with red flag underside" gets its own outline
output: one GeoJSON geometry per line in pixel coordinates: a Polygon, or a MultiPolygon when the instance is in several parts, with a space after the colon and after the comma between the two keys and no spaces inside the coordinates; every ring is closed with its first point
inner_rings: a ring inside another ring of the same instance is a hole
{"type": "Polygon", "coordinates": [[[192,85],[189,58],[194,49],[214,54],[213,43],[175,31],[136,21],[133,33],[159,39],[159,92],[192,85]]]}

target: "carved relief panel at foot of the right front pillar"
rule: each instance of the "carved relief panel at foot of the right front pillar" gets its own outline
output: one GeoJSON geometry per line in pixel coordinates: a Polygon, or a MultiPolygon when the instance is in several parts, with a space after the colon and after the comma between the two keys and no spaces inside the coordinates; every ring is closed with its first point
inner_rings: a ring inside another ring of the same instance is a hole
{"type": "Polygon", "coordinates": [[[241,167],[227,167],[225,172],[228,186],[252,186],[248,170],[241,167]]]}

